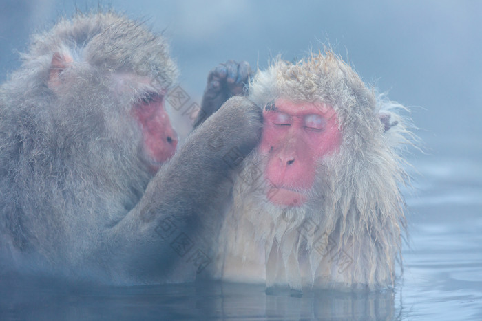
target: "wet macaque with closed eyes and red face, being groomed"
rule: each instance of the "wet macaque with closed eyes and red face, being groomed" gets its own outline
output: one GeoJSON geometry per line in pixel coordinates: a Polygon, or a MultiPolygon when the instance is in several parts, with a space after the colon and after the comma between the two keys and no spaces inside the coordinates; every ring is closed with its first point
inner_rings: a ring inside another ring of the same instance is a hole
{"type": "Polygon", "coordinates": [[[395,102],[332,52],[258,71],[258,147],[235,176],[214,275],[267,289],[389,287],[395,280],[410,132],[395,102]]]}

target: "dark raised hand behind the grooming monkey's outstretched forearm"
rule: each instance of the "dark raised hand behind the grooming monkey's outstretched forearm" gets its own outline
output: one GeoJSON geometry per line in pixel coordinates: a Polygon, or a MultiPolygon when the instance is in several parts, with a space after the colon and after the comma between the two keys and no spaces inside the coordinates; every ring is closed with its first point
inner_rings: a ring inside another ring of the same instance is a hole
{"type": "Polygon", "coordinates": [[[212,69],[207,77],[201,110],[196,122],[194,122],[194,128],[220,109],[226,100],[232,96],[242,95],[250,76],[252,76],[251,67],[246,61],[238,63],[229,60],[227,63],[222,63],[212,69]]]}

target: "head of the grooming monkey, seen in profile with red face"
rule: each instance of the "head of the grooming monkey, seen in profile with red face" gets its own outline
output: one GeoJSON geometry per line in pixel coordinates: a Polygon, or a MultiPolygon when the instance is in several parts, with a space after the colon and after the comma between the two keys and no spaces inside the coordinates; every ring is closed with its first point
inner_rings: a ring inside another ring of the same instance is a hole
{"type": "Polygon", "coordinates": [[[38,36],[25,58],[45,66],[38,79],[58,106],[59,123],[92,118],[69,126],[90,125],[92,138],[107,135],[152,173],[174,154],[177,135],[164,98],[177,70],[163,36],[113,13],[78,14],[38,36]]]}

